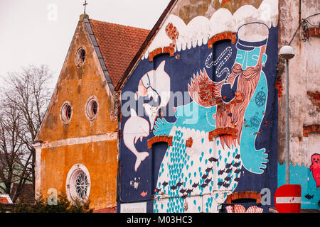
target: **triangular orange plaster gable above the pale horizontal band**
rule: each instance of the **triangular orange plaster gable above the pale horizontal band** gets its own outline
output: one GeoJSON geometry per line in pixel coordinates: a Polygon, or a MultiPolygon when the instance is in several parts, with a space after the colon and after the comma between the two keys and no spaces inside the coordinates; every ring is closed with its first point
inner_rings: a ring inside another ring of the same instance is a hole
{"type": "Polygon", "coordinates": [[[113,96],[99,65],[100,62],[97,60],[85,25],[80,22],[38,140],[62,140],[117,131],[117,118],[112,114],[113,96]],[[80,47],[85,48],[87,58],[85,64],[78,67],[75,62],[75,54],[80,47]],[[85,104],[92,95],[97,96],[99,113],[95,121],[88,121],[85,117],[85,104]],[[68,125],[60,121],[60,109],[66,100],[70,101],[73,106],[73,116],[68,125]]]}

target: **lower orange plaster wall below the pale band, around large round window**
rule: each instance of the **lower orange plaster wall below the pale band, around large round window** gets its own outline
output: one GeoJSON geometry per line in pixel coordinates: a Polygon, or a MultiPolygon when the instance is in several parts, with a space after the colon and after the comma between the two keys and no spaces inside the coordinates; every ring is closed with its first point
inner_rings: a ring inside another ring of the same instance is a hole
{"type": "Polygon", "coordinates": [[[117,140],[66,145],[41,150],[41,193],[48,189],[65,191],[68,172],[75,163],[82,163],[90,173],[91,207],[104,209],[115,206],[117,194],[117,140]]]}

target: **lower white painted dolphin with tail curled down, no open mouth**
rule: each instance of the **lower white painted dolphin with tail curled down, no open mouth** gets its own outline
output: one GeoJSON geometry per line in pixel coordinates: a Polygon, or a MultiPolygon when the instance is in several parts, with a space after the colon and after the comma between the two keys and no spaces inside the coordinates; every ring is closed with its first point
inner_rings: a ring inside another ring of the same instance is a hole
{"type": "Polygon", "coordinates": [[[130,111],[131,116],[126,121],[123,128],[123,140],[124,145],[126,145],[127,148],[137,157],[134,165],[134,171],[137,172],[139,165],[146,159],[146,157],[149,156],[149,153],[139,152],[136,149],[135,144],[137,143],[137,140],[140,139],[140,141],[142,141],[142,138],[149,135],[149,122],[144,118],[137,116],[134,109],[131,109],[130,111]]]}

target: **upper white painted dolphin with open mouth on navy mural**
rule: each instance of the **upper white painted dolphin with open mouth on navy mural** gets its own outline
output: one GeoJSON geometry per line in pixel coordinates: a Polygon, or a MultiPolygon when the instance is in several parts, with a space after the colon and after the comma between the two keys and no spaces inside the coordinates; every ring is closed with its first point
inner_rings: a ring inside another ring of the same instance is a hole
{"type": "Polygon", "coordinates": [[[165,61],[162,61],[156,70],[146,72],[139,81],[138,92],[135,94],[136,100],[139,96],[152,97],[155,102],[158,102],[160,96],[159,106],[151,106],[144,104],[146,115],[149,116],[150,129],[154,128],[154,121],[156,115],[161,109],[168,104],[170,99],[170,76],[164,71],[165,61]]]}

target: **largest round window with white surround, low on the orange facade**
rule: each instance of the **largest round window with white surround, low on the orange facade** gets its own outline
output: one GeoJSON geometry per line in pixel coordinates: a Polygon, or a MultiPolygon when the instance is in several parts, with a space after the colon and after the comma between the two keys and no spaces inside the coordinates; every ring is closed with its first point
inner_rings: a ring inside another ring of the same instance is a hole
{"type": "Polygon", "coordinates": [[[73,165],[66,181],[66,192],[70,201],[86,201],[90,194],[90,175],[85,165],[73,165]]]}

